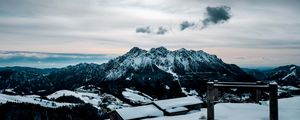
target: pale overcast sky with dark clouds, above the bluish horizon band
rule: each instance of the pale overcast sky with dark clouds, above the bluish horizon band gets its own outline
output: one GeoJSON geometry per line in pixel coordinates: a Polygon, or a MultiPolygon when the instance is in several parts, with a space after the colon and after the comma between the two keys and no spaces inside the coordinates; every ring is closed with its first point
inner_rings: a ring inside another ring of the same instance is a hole
{"type": "Polygon", "coordinates": [[[299,11],[299,0],[0,0],[0,50],[121,55],[165,46],[242,67],[300,65],[299,11]]]}

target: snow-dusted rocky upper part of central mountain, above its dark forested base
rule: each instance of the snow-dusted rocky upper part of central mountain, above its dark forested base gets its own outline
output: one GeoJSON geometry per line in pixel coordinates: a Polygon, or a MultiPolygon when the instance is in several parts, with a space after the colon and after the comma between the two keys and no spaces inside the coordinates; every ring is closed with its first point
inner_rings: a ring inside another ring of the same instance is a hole
{"type": "MultiPolygon", "coordinates": [[[[164,47],[152,48],[149,51],[138,47],[132,48],[125,55],[110,60],[106,66],[106,80],[133,79],[135,72],[165,72],[173,79],[186,75],[212,75],[215,79],[234,81],[246,76],[238,66],[226,64],[216,55],[210,55],[202,50],[170,51],[164,47]],[[226,78],[224,78],[226,76],[226,78]]],[[[207,77],[207,76],[206,76],[207,77]]],[[[143,80],[155,79],[154,76],[143,77],[143,80]]],[[[202,79],[207,79],[203,77],[202,79]]],[[[211,79],[207,79],[211,80],[211,79]]],[[[249,79],[246,79],[249,80],[249,79]]]]}

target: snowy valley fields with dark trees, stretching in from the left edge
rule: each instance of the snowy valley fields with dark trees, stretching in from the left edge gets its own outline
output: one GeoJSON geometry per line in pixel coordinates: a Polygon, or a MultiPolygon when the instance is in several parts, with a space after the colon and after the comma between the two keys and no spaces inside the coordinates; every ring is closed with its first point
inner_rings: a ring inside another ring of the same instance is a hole
{"type": "Polygon", "coordinates": [[[100,105],[106,105],[110,110],[115,110],[123,107],[129,107],[130,105],[123,103],[118,98],[114,97],[110,94],[96,94],[96,93],[88,93],[88,92],[74,92],[70,90],[59,90],[55,93],[46,96],[49,100],[41,99],[38,95],[6,95],[0,94],[0,104],[5,104],[7,102],[14,103],[31,103],[38,104],[43,107],[49,108],[58,108],[61,106],[70,106],[77,105],[75,103],[66,103],[66,102],[56,102],[55,99],[62,96],[74,96],[76,98],[81,99],[85,103],[89,103],[93,105],[97,109],[101,109],[100,105]],[[105,101],[105,102],[103,102],[105,101]]]}

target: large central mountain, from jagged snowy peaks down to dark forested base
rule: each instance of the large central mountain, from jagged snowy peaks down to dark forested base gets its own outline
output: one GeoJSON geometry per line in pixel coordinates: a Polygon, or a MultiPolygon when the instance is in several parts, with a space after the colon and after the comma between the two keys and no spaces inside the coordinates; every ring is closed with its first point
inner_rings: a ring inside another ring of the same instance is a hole
{"type": "Polygon", "coordinates": [[[102,66],[105,73],[102,81],[111,83],[110,91],[134,88],[161,99],[183,96],[183,88],[187,92],[196,90],[204,93],[206,82],[210,80],[256,80],[238,66],[224,63],[216,55],[184,48],[171,51],[158,47],[147,51],[134,47],[102,66]]]}

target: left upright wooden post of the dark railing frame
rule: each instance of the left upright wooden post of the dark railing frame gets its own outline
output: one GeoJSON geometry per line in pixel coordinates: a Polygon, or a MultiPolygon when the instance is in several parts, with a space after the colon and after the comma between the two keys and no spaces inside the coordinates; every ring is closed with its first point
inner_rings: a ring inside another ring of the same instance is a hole
{"type": "Polygon", "coordinates": [[[207,120],[214,120],[214,83],[207,83],[207,120]]]}

